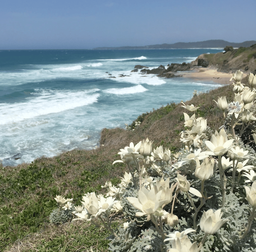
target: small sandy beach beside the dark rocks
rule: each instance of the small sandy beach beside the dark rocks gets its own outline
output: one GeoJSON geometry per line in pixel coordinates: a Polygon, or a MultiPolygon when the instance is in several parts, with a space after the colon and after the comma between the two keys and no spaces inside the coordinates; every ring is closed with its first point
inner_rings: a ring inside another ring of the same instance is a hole
{"type": "Polygon", "coordinates": [[[182,72],[183,77],[202,80],[202,81],[213,81],[218,84],[227,85],[230,84],[230,78],[232,74],[217,72],[216,68],[208,67],[208,68],[197,68],[192,71],[182,72]]]}

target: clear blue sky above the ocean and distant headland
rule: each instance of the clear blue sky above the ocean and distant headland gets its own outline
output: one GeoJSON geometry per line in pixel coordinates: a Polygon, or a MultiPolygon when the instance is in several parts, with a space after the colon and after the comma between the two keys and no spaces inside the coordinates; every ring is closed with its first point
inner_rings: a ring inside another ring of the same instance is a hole
{"type": "Polygon", "coordinates": [[[256,40],[256,0],[0,3],[0,49],[92,49],[256,40]]]}

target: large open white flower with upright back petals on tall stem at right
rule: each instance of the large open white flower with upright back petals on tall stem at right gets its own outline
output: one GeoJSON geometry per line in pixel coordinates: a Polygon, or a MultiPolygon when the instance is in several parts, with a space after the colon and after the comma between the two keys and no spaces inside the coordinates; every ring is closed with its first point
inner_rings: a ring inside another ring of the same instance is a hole
{"type": "Polygon", "coordinates": [[[207,151],[206,154],[212,156],[223,155],[233,147],[233,141],[234,139],[228,140],[228,136],[223,128],[219,133],[215,131],[215,134],[212,135],[211,140],[205,141],[206,146],[210,149],[210,151],[207,151]]]}

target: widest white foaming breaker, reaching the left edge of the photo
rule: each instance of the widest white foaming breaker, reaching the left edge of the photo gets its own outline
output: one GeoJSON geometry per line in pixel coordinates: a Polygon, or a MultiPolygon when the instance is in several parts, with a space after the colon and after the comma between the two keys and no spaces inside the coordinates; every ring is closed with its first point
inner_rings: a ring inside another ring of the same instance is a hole
{"type": "Polygon", "coordinates": [[[58,113],[97,102],[98,89],[88,91],[36,90],[26,102],[0,104],[0,125],[14,123],[40,115],[58,113]]]}

